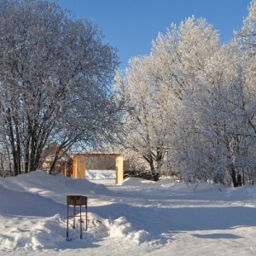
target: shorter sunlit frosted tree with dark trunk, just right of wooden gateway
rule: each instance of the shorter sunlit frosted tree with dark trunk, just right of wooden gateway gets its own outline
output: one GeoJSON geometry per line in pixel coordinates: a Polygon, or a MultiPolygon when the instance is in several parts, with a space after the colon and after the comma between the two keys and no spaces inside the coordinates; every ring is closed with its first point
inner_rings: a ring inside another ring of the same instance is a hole
{"type": "Polygon", "coordinates": [[[171,98],[165,94],[163,84],[152,78],[150,61],[150,57],[134,58],[125,78],[116,76],[115,81],[127,110],[125,148],[141,155],[158,180],[170,135],[166,119],[171,98]]]}

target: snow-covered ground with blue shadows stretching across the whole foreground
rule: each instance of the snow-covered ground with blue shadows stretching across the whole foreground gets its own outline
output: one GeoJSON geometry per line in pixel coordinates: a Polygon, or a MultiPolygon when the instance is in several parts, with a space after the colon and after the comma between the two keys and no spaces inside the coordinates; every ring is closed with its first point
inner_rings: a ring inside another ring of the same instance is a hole
{"type": "Polygon", "coordinates": [[[0,255],[255,255],[256,186],[87,178],[0,178],[0,255]],[[82,239],[77,222],[66,241],[67,195],[89,197],[82,239]]]}

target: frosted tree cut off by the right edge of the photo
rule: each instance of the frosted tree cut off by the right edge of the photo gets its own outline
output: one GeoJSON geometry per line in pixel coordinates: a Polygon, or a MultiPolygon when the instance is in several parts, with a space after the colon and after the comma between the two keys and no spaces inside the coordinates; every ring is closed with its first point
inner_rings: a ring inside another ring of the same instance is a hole
{"type": "Polygon", "coordinates": [[[248,8],[248,15],[243,20],[241,31],[236,32],[237,48],[241,51],[243,60],[243,96],[244,96],[244,123],[247,124],[247,130],[243,137],[250,142],[248,147],[247,167],[244,173],[247,179],[253,183],[256,181],[256,163],[255,163],[255,139],[256,139],[256,104],[255,104],[255,73],[256,73],[256,1],[253,0],[248,8]],[[251,150],[249,150],[251,149],[251,150]]]}

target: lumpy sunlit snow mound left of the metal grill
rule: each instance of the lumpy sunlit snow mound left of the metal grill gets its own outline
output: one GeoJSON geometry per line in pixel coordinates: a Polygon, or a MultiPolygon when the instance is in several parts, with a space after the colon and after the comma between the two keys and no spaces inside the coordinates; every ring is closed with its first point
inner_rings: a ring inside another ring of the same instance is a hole
{"type": "Polygon", "coordinates": [[[0,222],[4,223],[0,234],[1,252],[55,248],[63,242],[64,222],[58,214],[50,218],[1,217],[0,222]]]}

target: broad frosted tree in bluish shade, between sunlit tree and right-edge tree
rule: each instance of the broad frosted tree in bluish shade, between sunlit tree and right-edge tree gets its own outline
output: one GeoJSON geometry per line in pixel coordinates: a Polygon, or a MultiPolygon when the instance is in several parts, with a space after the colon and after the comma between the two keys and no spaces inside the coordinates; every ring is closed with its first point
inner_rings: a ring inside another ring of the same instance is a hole
{"type": "Polygon", "coordinates": [[[185,179],[236,184],[249,145],[242,136],[247,131],[245,90],[236,53],[219,49],[179,109],[183,132],[177,134],[176,160],[183,165],[185,179]]]}

